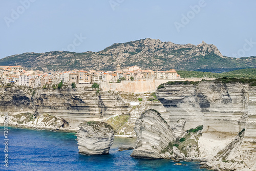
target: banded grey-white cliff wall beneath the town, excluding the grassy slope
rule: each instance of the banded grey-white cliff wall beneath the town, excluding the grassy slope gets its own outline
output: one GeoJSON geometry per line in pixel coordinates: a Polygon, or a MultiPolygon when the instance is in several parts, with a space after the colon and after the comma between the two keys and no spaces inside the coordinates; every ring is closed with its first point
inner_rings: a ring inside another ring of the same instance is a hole
{"type": "Polygon", "coordinates": [[[63,90],[31,90],[12,87],[0,90],[0,112],[10,115],[32,111],[35,116],[49,114],[69,122],[74,129],[84,119],[103,119],[111,115],[127,113],[129,104],[117,93],[100,92],[92,88],[63,90]]]}

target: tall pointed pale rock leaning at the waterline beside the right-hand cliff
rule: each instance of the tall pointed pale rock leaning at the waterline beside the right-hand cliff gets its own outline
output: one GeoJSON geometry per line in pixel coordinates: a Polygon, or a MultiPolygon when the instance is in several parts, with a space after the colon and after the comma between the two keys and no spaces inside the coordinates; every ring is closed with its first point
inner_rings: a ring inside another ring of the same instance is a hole
{"type": "Polygon", "coordinates": [[[136,121],[136,147],[132,157],[159,159],[168,158],[172,152],[171,142],[175,137],[172,129],[155,110],[147,110],[136,121]]]}

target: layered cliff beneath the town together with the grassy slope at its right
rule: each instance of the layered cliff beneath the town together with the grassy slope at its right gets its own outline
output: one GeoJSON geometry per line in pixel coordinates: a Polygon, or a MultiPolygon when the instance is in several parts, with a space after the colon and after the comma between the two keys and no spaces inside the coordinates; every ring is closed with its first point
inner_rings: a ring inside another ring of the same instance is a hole
{"type": "Polygon", "coordinates": [[[65,120],[66,129],[70,131],[76,131],[78,124],[85,120],[105,121],[115,128],[115,135],[134,137],[136,119],[153,102],[147,100],[149,96],[149,93],[97,93],[89,87],[32,90],[15,86],[0,89],[0,114],[8,112],[12,116],[29,112],[34,117],[48,114],[65,120]],[[143,101],[139,102],[138,97],[143,101]],[[131,102],[138,103],[131,105],[131,102]]]}

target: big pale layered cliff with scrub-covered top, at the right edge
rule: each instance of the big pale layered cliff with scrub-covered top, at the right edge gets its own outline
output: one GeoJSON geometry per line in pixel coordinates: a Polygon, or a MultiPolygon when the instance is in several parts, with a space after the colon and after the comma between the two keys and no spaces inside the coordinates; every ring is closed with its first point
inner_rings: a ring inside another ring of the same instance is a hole
{"type": "Polygon", "coordinates": [[[184,118],[185,130],[204,126],[197,138],[197,157],[209,159],[209,167],[255,170],[255,87],[214,82],[165,85],[157,97],[166,109],[161,115],[169,124],[184,118]]]}

